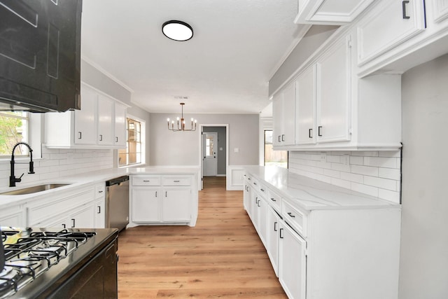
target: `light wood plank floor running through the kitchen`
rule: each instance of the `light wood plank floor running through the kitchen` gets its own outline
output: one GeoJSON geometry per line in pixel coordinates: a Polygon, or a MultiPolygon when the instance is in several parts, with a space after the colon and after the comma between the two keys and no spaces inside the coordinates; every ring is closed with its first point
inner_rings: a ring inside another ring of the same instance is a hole
{"type": "Polygon", "coordinates": [[[118,239],[118,298],[286,298],[225,177],[204,178],[188,226],[128,228],[118,239]]]}

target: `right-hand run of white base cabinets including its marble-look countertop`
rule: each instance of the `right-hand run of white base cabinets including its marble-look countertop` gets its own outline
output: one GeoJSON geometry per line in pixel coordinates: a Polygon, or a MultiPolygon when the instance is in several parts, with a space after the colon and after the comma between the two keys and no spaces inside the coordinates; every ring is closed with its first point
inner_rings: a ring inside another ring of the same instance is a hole
{"type": "Polygon", "coordinates": [[[246,211],[289,298],[398,298],[400,204],[266,168],[247,167],[267,197],[246,211]]]}

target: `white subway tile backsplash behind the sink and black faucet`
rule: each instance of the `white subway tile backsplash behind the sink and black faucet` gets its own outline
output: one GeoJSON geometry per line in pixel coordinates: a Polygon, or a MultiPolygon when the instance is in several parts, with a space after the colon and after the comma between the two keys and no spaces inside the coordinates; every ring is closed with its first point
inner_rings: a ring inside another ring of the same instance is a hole
{"type": "MultiPolygon", "coordinates": [[[[29,159],[16,160],[15,176],[22,177],[21,183],[32,183],[45,179],[57,179],[60,176],[82,174],[113,167],[111,149],[54,149],[42,146],[42,158],[34,157],[34,172],[28,174],[29,159]]],[[[9,186],[10,162],[0,161],[0,188],[9,186]]],[[[20,186],[20,183],[18,183],[20,186]]]]}

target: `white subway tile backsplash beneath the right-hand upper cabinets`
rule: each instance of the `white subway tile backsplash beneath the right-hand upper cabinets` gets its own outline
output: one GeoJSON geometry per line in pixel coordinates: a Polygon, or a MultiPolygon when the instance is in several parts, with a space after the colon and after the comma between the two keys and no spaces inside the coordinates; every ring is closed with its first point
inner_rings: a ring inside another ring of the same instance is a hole
{"type": "Polygon", "coordinates": [[[400,202],[400,151],[290,151],[288,159],[290,172],[400,202]]]}

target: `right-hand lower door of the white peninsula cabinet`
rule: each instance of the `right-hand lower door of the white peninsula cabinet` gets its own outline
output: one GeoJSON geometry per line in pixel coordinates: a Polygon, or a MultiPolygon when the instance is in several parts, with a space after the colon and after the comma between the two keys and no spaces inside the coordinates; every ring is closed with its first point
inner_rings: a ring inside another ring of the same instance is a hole
{"type": "Polygon", "coordinates": [[[167,188],[162,194],[163,221],[190,221],[190,188],[167,188]]]}

